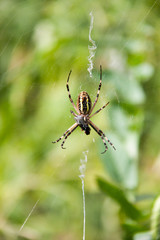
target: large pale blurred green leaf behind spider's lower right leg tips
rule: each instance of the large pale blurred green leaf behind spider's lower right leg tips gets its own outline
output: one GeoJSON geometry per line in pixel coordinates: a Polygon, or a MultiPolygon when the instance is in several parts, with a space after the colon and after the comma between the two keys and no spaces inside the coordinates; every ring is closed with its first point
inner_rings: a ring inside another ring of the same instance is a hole
{"type": "Polygon", "coordinates": [[[138,134],[130,131],[126,133],[125,139],[110,132],[107,132],[107,136],[117,149],[109,149],[107,155],[101,155],[107,174],[124,188],[135,189],[138,185],[138,134]]]}

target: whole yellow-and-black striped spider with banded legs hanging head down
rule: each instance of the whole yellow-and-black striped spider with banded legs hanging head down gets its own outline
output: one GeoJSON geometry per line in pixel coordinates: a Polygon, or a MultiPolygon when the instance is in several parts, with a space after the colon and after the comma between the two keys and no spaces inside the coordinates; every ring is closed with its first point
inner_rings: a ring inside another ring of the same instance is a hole
{"type": "Polygon", "coordinates": [[[79,126],[81,128],[82,131],[85,132],[86,135],[90,134],[91,128],[90,126],[100,135],[100,137],[102,138],[102,141],[104,143],[105,146],[105,150],[102,153],[105,153],[108,149],[106,141],[113,147],[114,150],[116,150],[115,146],[113,145],[113,143],[110,142],[110,140],[105,136],[105,134],[102,132],[102,130],[100,130],[90,119],[96,115],[97,113],[99,113],[102,109],[104,109],[109,102],[107,102],[103,107],[101,107],[100,109],[98,109],[95,113],[91,114],[93,112],[93,109],[98,101],[98,97],[99,97],[99,92],[102,86],[102,66],[100,65],[100,83],[99,83],[99,87],[98,87],[98,91],[97,91],[97,96],[95,99],[95,102],[92,106],[91,103],[91,98],[88,95],[87,92],[82,91],[80,92],[80,94],[78,95],[78,99],[77,99],[77,106],[75,106],[71,94],[70,94],[70,90],[69,90],[69,78],[71,75],[72,70],[69,72],[68,75],[68,79],[67,79],[67,92],[68,92],[68,96],[69,96],[69,100],[72,103],[74,109],[76,110],[77,114],[75,112],[73,112],[72,110],[70,111],[71,114],[74,115],[74,119],[76,121],[76,123],[74,123],[63,135],[62,137],[60,137],[59,139],[57,139],[56,141],[52,142],[52,143],[57,143],[59,142],[62,138],[64,138],[62,144],[61,144],[61,148],[65,149],[63,147],[66,139],[69,137],[69,135],[79,126]]]}

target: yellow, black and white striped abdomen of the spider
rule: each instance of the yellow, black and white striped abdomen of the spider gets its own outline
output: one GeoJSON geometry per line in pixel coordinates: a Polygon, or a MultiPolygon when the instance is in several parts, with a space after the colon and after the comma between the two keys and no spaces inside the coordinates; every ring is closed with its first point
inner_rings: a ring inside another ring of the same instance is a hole
{"type": "Polygon", "coordinates": [[[87,92],[80,92],[77,99],[77,108],[80,114],[89,114],[91,110],[91,99],[87,92]]]}

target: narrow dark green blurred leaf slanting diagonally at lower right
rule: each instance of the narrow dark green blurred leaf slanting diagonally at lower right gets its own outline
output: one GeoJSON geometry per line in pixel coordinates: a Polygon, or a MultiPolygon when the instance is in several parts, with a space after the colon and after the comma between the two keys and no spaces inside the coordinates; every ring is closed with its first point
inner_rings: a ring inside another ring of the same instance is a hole
{"type": "Polygon", "coordinates": [[[97,182],[102,192],[114,199],[129,218],[133,220],[142,218],[142,213],[127,199],[123,190],[102,178],[98,178],[97,182]]]}

